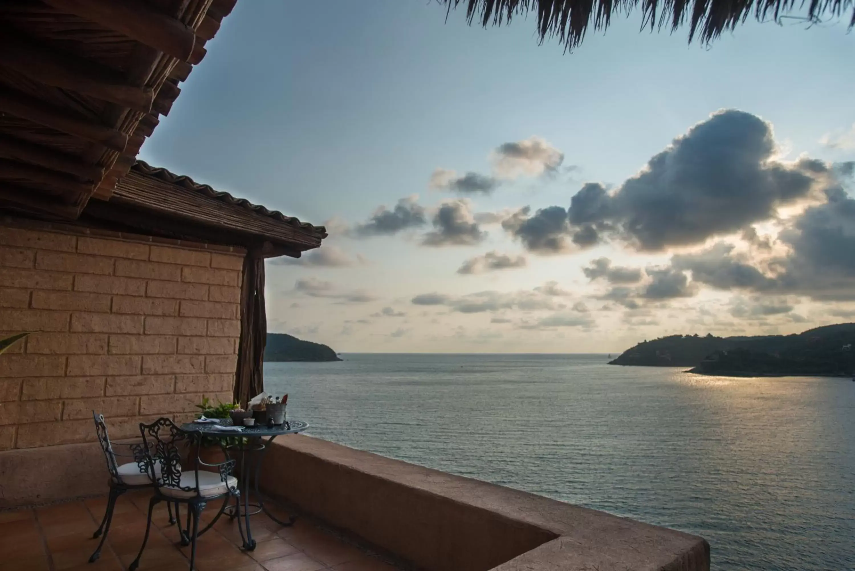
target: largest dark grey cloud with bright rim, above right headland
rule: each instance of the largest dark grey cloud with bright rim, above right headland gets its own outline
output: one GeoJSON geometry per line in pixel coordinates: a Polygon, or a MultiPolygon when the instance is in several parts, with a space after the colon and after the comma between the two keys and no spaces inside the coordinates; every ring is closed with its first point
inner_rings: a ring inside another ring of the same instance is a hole
{"type": "Polygon", "coordinates": [[[690,128],[614,189],[589,182],[569,209],[521,211],[504,229],[538,253],[617,238],[641,251],[700,244],[775,217],[779,207],[834,186],[831,165],[775,158],[771,125],[722,110],[690,128]]]}

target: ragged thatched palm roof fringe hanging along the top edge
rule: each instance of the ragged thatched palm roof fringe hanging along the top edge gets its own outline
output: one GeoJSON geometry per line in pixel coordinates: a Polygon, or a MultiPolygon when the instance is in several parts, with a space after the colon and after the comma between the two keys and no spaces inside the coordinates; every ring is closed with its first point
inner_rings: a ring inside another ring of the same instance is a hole
{"type": "Polygon", "coordinates": [[[781,21],[781,17],[798,16],[805,23],[824,18],[840,18],[852,11],[850,29],[855,26],[855,0],[439,0],[448,9],[466,5],[471,24],[496,26],[510,23],[516,15],[537,15],[538,36],[557,36],[569,50],[580,45],[587,28],[609,27],[612,15],[628,14],[639,8],[641,27],[669,27],[675,31],[688,25],[689,42],[716,39],[725,30],[733,30],[752,15],[758,21],[781,21]]]}

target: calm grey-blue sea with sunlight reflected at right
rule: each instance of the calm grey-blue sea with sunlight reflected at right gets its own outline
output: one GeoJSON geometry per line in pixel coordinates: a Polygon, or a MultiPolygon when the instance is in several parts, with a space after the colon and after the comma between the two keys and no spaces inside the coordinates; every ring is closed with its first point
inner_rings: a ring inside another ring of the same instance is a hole
{"type": "Polygon", "coordinates": [[[267,363],[310,434],[697,533],[712,567],[855,569],[855,383],[605,355],[267,363]]]}

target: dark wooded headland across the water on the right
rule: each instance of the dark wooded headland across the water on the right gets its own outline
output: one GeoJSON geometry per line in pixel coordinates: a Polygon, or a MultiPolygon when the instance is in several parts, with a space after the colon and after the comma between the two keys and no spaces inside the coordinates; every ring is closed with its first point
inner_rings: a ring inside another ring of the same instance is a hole
{"type": "Polygon", "coordinates": [[[855,324],[817,327],[793,335],[672,335],[640,342],[610,365],[688,366],[725,377],[855,375],[855,324]]]}

